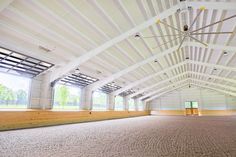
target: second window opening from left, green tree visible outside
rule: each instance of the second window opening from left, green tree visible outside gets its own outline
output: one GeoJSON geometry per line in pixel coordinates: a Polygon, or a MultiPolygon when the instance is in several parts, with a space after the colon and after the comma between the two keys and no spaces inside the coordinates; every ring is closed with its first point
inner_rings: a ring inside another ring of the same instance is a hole
{"type": "Polygon", "coordinates": [[[81,89],[63,84],[56,84],[54,88],[54,109],[79,109],[81,89]]]}

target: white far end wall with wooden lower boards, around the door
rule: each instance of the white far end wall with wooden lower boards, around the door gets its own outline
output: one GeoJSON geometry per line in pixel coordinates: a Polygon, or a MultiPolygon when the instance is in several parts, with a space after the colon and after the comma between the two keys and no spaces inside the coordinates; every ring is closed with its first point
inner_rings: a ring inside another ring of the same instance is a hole
{"type": "Polygon", "coordinates": [[[197,101],[199,114],[234,114],[236,97],[199,87],[185,87],[152,100],[152,114],[185,114],[184,102],[197,101]]]}

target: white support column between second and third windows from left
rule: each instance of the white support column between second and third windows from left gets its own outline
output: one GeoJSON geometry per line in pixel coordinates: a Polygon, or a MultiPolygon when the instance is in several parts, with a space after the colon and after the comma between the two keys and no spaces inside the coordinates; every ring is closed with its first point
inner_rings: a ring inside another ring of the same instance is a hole
{"type": "Polygon", "coordinates": [[[83,88],[81,90],[81,103],[80,103],[80,109],[81,110],[92,110],[92,96],[93,91],[89,88],[83,88]]]}

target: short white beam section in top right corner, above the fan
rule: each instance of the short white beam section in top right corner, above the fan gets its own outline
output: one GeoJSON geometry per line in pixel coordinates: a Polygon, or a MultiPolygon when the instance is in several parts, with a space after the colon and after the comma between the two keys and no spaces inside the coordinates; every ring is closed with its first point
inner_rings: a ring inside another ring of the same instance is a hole
{"type": "Polygon", "coordinates": [[[188,2],[188,6],[192,6],[194,9],[205,7],[209,10],[236,10],[235,2],[188,2]]]}

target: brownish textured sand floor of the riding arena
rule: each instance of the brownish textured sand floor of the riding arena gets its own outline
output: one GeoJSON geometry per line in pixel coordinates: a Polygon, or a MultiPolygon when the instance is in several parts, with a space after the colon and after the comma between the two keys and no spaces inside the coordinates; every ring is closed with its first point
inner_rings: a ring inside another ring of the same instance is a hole
{"type": "Polygon", "coordinates": [[[146,116],[0,132],[1,157],[236,157],[236,116],[146,116]]]}

